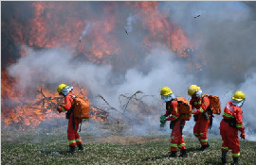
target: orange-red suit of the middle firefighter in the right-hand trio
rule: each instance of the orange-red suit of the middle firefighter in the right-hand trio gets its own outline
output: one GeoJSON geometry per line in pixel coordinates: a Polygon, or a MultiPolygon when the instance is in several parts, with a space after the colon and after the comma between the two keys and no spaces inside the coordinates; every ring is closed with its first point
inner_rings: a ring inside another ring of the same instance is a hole
{"type": "Polygon", "coordinates": [[[208,144],[207,132],[210,125],[210,114],[208,114],[208,119],[203,117],[203,113],[210,106],[210,100],[206,96],[200,98],[192,98],[190,104],[192,108],[196,108],[192,113],[197,115],[197,121],[193,127],[193,135],[201,142],[201,145],[208,144]]]}

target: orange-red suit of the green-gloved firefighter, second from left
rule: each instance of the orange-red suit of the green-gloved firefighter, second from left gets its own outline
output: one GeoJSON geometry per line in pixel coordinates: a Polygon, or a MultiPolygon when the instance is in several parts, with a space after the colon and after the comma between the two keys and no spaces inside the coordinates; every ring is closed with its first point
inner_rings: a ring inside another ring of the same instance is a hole
{"type": "Polygon", "coordinates": [[[167,119],[165,119],[165,121],[175,121],[174,128],[171,134],[171,151],[177,151],[177,148],[179,148],[180,150],[186,150],[186,143],[182,137],[183,127],[181,127],[185,125],[185,120],[181,119],[181,115],[178,112],[177,101],[166,102],[166,113],[164,116],[168,117],[167,119]],[[168,117],[171,114],[172,116],[168,117]]]}

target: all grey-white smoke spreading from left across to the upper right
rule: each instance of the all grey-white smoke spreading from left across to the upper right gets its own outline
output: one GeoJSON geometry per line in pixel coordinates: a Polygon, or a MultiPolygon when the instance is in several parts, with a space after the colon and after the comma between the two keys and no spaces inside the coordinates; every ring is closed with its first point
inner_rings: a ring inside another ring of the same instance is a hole
{"type": "MultiPolygon", "coordinates": [[[[98,3],[94,8],[100,5],[98,3]]],[[[119,107],[118,97],[122,93],[143,91],[158,96],[161,87],[169,86],[175,95],[188,98],[188,87],[197,84],[204,93],[219,95],[223,110],[233,93],[241,90],[247,98],[243,107],[247,138],[255,140],[255,13],[251,14],[253,11],[241,2],[159,2],[157,8],[185,30],[195,46],[192,62],[200,62],[202,71],[190,71],[188,61],[177,58],[176,52],[162,42],[152,43],[154,48],[145,56],[146,51],[140,49],[146,32],[138,21],[133,22],[133,34],[127,37],[123,33],[127,18],[131,14],[137,15],[137,11],[123,8],[117,11],[123,23],[116,31],[121,39],[118,44],[121,51],[108,58],[110,61],[106,64],[82,61],[63,47],[40,51],[30,49],[24,58],[9,66],[9,74],[19,78],[17,87],[21,89],[36,89],[41,83],[40,77],[46,78],[52,89],[63,82],[77,82],[88,90],[94,104],[101,104],[94,97],[101,93],[115,107],[119,107]],[[126,52],[133,53],[130,49],[138,57],[127,55],[126,52]]],[[[100,22],[104,18],[102,14],[95,15],[95,10],[87,12],[88,18],[96,16],[100,22]]],[[[101,29],[91,26],[84,38],[90,37],[94,30],[101,33],[101,29]]],[[[164,113],[163,108],[164,105],[155,110],[158,113],[155,120],[164,113]]],[[[221,119],[222,116],[215,115],[212,133],[219,133],[221,119]]],[[[152,122],[147,117],[144,121],[145,124],[136,126],[129,133],[135,134],[137,130],[137,134],[147,135],[158,127],[158,121],[152,122]]],[[[184,131],[192,133],[192,126],[193,121],[188,122],[184,131]]]]}

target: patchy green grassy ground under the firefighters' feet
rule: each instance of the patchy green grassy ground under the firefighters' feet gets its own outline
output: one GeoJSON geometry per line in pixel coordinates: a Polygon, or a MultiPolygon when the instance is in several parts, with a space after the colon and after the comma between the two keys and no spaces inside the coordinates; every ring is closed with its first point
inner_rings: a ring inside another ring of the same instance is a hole
{"type": "MultiPolygon", "coordinates": [[[[220,164],[221,140],[210,140],[210,149],[199,152],[197,140],[186,140],[186,158],[170,158],[169,136],[82,136],[84,151],[67,153],[64,134],[2,136],[1,164],[220,164]],[[86,137],[86,140],[85,140],[86,137]]],[[[241,164],[256,164],[256,142],[241,140],[241,164]]],[[[229,152],[228,162],[232,162],[229,152]]]]}

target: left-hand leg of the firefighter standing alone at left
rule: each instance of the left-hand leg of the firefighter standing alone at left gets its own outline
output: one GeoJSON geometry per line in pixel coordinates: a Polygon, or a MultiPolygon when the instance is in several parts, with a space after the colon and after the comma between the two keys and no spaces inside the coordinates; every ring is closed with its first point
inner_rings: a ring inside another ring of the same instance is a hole
{"type": "Polygon", "coordinates": [[[69,117],[68,125],[67,125],[67,139],[69,140],[69,151],[71,154],[76,153],[76,131],[74,130],[73,124],[72,124],[72,114],[69,117]]]}

